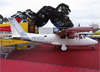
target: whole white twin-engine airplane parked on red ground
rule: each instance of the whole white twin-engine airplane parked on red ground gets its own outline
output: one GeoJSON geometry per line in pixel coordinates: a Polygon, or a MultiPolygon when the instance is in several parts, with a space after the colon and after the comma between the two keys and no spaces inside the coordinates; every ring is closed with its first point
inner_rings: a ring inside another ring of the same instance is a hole
{"type": "Polygon", "coordinates": [[[10,22],[12,38],[58,45],[61,46],[62,51],[66,51],[67,46],[92,46],[95,49],[93,45],[98,43],[93,39],[79,34],[79,32],[93,30],[92,27],[69,28],[57,34],[33,34],[25,33],[15,18],[8,18],[8,20],[10,22]]]}

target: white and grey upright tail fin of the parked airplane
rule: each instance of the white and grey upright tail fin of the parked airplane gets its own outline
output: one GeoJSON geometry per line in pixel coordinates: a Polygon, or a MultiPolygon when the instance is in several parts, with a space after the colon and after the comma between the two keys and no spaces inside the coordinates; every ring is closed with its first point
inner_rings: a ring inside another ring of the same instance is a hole
{"type": "Polygon", "coordinates": [[[25,37],[27,34],[22,29],[22,27],[19,25],[19,23],[16,21],[15,18],[8,18],[10,22],[11,32],[16,37],[25,37]]]}

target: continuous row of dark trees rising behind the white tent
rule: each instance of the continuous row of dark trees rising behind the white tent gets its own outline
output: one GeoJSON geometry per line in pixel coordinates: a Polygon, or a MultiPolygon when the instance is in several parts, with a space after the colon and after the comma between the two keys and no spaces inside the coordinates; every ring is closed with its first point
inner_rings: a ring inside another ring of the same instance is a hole
{"type": "Polygon", "coordinates": [[[56,8],[43,6],[37,13],[30,9],[25,12],[17,11],[12,17],[19,17],[23,22],[31,22],[37,27],[43,26],[50,19],[53,24],[58,24],[60,29],[67,29],[74,26],[68,16],[70,12],[69,6],[61,3],[56,8]]]}

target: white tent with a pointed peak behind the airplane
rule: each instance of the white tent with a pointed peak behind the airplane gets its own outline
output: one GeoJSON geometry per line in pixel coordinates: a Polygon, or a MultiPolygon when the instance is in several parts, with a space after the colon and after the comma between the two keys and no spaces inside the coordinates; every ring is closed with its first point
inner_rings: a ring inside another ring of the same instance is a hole
{"type": "Polygon", "coordinates": [[[53,34],[54,33],[54,29],[56,29],[56,27],[49,20],[47,22],[47,24],[45,24],[42,27],[39,27],[39,34],[53,34]]]}

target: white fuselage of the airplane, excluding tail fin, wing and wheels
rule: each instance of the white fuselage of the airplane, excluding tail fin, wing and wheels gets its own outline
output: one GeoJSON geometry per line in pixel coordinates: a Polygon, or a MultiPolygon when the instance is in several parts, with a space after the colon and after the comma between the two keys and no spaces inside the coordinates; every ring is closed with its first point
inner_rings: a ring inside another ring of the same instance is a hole
{"type": "Polygon", "coordinates": [[[60,38],[59,35],[57,34],[29,34],[29,33],[27,33],[27,36],[31,41],[48,43],[53,45],[64,44],[67,46],[89,46],[97,43],[97,41],[90,39],[88,37],[68,38],[66,36],[65,38],[60,38]]]}

